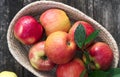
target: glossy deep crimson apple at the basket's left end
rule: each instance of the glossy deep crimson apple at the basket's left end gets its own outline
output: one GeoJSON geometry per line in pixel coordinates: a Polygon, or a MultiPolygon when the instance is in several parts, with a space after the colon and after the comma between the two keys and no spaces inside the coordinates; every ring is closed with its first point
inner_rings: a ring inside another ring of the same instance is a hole
{"type": "Polygon", "coordinates": [[[43,28],[32,16],[23,16],[14,26],[15,37],[23,44],[31,45],[42,37],[43,28]]]}

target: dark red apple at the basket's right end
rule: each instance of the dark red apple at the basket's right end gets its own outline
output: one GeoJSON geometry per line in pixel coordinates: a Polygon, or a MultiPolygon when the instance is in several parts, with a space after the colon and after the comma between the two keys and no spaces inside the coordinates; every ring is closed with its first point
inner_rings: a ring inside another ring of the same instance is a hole
{"type": "Polygon", "coordinates": [[[88,51],[96,69],[109,69],[113,61],[113,52],[109,45],[104,42],[96,42],[88,51]]]}

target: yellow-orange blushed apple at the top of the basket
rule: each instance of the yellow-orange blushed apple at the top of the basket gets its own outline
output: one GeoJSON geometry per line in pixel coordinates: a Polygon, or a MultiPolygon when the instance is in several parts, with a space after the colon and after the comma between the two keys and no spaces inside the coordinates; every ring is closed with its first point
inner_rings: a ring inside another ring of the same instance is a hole
{"type": "Polygon", "coordinates": [[[59,30],[68,32],[71,27],[67,14],[61,9],[48,9],[40,15],[39,20],[46,35],[59,30]]]}

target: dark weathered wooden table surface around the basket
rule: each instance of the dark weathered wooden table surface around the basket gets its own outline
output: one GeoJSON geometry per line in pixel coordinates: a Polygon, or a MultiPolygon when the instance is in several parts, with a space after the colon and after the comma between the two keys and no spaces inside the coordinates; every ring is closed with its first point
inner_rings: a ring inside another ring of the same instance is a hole
{"type": "MultiPolygon", "coordinates": [[[[35,77],[10,54],[7,29],[14,15],[36,0],[0,0],[0,72],[9,70],[18,77],[35,77]]],[[[75,7],[103,25],[115,38],[120,49],[120,0],[54,0],[75,7]]],[[[118,65],[120,67],[120,64],[118,65]]]]}

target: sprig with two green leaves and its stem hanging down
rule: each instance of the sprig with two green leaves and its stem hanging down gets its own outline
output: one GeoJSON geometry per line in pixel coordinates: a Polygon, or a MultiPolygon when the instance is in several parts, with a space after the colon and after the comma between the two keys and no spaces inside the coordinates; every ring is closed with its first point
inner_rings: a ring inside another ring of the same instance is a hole
{"type": "Polygon", "coordinates": [[[98,34],[99,34],[99,30],[95,30],[86,38],[86,31],[82,24],[79,24],[79,26],[75,30],[75,34],[74,34],[75,42],[78,45],[78,47],[82,49],[83,54],[86,57],[85,66],[88,70],[90,70],[89,64],[91,63],[91,61],[89,57],[89,52],[86,51],[85,46],[90,42],[92,42],[98,36],[98,34]]]}

